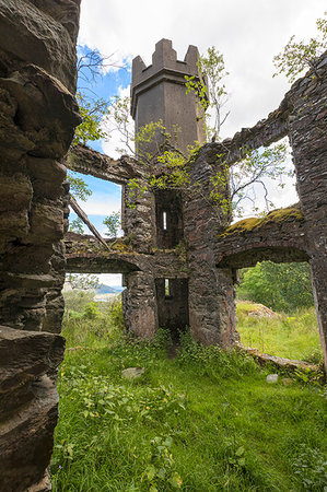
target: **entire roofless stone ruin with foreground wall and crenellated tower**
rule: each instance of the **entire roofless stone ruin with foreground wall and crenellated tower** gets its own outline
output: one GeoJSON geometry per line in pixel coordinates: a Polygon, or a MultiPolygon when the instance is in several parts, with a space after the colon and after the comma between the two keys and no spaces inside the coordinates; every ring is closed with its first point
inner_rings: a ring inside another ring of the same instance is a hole
{"type": "MultiPolygon", "coordinates": [[[[159,326],[174,333],[188,325],[197,340],[230,347],[238,338],[236,269],[262,259],[308,261],[327,360],[327,55],[318,77],[308,73],[295,82],[267,119],[201,148],[191,165],[201,194],[147,188],[131,195],[131,179],[147,183],[136,160],[113,161],[84,147],[66,157],[79,122],[73,97],[78,23],[79,0],[0,0],[0,490],[5,491],[49,488],[66,269],[122,272],[127,329],[139,337],[151,339],[159,326]],[[242,148],[284,136],[293,150],[300,208],[230,226],[206,200],[210,177],[224,161],[237,162],[242,148]],[[67,234],[63,254],[67,163],[122,185],[125,238],[112,251],[91,236],[67,234]]],[[[203,139],[196,101],[183,85],[184,74],[196,74],[196,58],[190,47],[177,61],[171,42],[163,39],[152,66],[139,57],[133,61],[137,126],[162,118],[170,130],[177,122],[182,150],[203,139]]]]}

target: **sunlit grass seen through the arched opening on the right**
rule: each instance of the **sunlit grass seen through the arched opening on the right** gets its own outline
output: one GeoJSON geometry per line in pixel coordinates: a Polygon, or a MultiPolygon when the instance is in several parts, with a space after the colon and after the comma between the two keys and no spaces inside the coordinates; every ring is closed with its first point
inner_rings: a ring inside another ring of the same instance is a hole
{"type": "Polygon", "coordinates": [[[319,363],[323,359],[316,312],[314,307],[300,309],[291,316],[252,316],[257,304],[238,302],[237,331],[246,347],[281,358],[319,363]]]}

